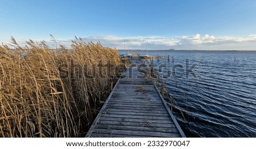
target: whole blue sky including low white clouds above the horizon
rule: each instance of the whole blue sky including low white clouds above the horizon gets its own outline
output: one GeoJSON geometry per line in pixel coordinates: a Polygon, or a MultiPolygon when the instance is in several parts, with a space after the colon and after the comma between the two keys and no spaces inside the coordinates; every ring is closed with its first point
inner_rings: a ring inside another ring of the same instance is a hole
{"type": "MultiPolygon", "coordinates": [[[[106,46],[255,49],[256,1],[0,1],[0,42],[13,36],[69,46],[74,36],[106,46]]],[[[256,49],[255,49],[256,50],[256,49]]]]}

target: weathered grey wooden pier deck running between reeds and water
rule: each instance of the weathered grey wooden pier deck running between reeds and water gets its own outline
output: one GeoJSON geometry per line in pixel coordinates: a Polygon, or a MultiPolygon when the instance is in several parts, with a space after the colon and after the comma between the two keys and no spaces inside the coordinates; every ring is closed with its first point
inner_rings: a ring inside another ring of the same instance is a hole
{"type": "MultiPolygon", "coordinates": [[[[142,63],[137,53],[131,63],[142,63]]],[[[136,78],[141,75],[136,67],[127,71],[85,137],[185,137],[154,82],[136,78]]]]}

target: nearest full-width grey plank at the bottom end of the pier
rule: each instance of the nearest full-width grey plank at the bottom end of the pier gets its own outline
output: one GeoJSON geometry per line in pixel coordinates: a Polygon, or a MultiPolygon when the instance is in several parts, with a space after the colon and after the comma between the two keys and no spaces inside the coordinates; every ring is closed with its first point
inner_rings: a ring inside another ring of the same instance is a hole
{"type": "Polygon", "coordinates": [[[115,129],[94,129],[94,133],[101,134],[127,134],[137,136],[151,136],[151,137],[180,137],[178,133],[163,133],[163,132],[148,132],[148,131],[134,131],[134,130],[115,130],[115,129]]]}

